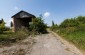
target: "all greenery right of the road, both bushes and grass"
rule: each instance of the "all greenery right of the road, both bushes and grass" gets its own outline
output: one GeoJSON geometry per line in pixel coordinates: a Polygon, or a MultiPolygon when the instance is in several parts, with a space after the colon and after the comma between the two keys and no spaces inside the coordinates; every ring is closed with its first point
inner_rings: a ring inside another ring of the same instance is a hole
{"type": "Polygon", "coordinates": [[[59,26],[53,27],[52,25],[52,31],[85,50],[85,16],[65,19],[59,26]]]}

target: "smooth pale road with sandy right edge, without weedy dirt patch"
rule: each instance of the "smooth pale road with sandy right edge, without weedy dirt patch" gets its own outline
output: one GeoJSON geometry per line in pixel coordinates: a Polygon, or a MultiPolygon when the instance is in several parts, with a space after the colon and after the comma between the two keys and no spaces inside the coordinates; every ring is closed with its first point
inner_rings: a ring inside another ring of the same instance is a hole
{"type": "Polygon", "coordinates": [[[32,47],[30,55],[83,55],[74,45],[56,34],[38,35],[35,39],[36,44],[32,47]]]}

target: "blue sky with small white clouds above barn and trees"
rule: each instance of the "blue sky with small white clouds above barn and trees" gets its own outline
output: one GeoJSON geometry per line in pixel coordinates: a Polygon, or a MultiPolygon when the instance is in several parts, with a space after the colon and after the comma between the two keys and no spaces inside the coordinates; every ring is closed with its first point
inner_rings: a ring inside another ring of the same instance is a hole
{"type": "Polygon", "coordinates": [[[0,0],[0,19],[10,26],[12,16],[24,10],[35,16],[43,15],[49,26],[67,18],[85,16],[85,0],[0,0]]]}

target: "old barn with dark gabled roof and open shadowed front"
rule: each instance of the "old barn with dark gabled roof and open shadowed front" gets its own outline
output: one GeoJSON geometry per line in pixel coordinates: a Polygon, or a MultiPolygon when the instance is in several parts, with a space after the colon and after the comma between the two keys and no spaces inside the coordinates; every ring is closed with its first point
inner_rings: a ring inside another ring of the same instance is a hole
{"type": "Polygon", "coordinates": [[[35,18],[34,15],[25,12],[20,11],[17,14],[12,16],[13,18],[13,31],[17,31],[18,29],[22,27],[29,27],[30,23],[32,23],[32,18],[35,18]]]}

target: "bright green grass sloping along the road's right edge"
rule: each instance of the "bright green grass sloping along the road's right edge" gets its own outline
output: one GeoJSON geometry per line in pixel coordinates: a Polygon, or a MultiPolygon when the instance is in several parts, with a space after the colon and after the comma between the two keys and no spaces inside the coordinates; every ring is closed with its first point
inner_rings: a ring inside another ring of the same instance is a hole
{"type": "Polygon", "coordinates": [[[58,32],[63,38],[75,44],[79,49],[85,50],[85,31],[58,32]]]}

